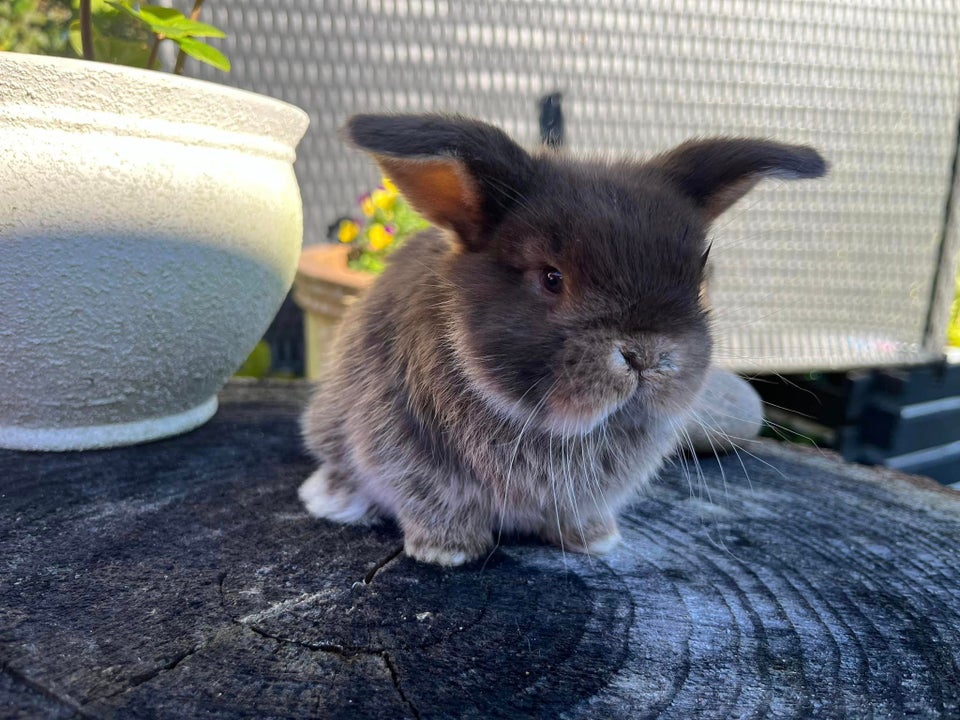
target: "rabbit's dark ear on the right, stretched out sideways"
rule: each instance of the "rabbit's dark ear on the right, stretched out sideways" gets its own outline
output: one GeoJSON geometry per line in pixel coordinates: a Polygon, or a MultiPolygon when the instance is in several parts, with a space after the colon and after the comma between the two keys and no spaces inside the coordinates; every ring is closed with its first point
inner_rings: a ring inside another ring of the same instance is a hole
{"type": "Polygon", "coordinates": [[[650,165],[693,200],[707,222],[765,177],[817,178],[827,171],[826,162],[811,147],[739,138],[686,142],[650,165]]]}

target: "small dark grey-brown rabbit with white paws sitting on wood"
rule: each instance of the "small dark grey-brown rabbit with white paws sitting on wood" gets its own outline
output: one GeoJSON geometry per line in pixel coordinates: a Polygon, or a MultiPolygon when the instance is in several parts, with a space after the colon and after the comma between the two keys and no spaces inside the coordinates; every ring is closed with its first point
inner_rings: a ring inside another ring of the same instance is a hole
{"type": "Polygon", "coordinates": [[[445,115],[357,115],[343,134],[433,227],[342,324],[302,418],[321,462],[308,512],[394,518],[407,555],[446,566],[504,534],[611,550],[710,364],[708,226],[823,158],[718,138],[576,161],[445,115]]]}

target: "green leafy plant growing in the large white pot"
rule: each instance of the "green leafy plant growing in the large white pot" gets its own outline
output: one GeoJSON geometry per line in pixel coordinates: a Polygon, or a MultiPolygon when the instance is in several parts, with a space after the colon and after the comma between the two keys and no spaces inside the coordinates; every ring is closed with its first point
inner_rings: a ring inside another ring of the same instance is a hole
{"type": "Polygon", "coordinates": [[[189,16],[175,8],[136,0],[75,2],[79,17],[70,25],[70,44],[81,57],[157,68],[160,44],[169,40],[178,48],[173,69],[177,74],[183,72],[187,56],[219,70],[230,70],[227,56],[203,40],[225,37],[219,28],[197,19],[203,0],[194,0],[189,16]]]}

